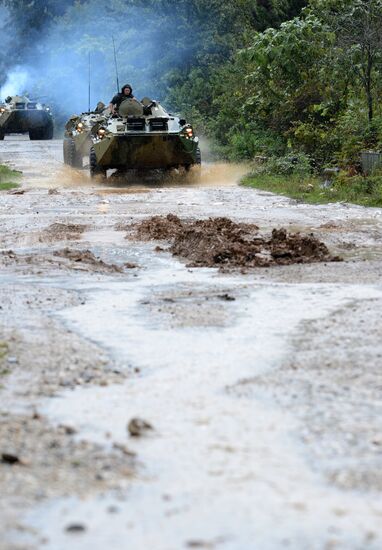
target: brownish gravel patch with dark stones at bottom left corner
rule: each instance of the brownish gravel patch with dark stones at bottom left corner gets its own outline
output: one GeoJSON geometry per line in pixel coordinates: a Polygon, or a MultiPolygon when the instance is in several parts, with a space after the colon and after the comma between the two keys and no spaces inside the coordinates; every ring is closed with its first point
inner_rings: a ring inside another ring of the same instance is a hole
{"type": "MultiPolygon", "coordinates": [[[[52,427],[37,412],[0,411],[0,548],[29,548],[4,539],[25,530],[20,511],[47,499],[120,491],[134,474],[128,448],[105,451],[78,440],[71,426],[52,427]]],[[[33,547],[35,547],[33,545],[33,547]]]]}

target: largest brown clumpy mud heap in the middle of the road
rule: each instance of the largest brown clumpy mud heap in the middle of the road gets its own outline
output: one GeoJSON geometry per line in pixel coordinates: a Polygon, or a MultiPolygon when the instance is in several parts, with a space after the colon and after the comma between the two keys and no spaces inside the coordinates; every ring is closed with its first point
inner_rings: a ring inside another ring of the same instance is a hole
{"type": "Polygon", "coordinates": [[[258,234],[255,224],[228,218],[182,221],[177,216],[154,216],[134,226],[144,240],[168,240],[170,251],[191,267],[269,267],[293,263],[338,261],[312,234],[274,229],[270,237],[258,234]]]}

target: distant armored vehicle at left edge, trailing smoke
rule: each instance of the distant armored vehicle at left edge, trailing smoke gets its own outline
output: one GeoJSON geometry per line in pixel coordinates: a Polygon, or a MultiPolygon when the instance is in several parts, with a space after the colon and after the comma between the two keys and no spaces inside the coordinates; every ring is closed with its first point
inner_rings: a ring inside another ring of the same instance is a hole
{"type": "Polygon", "coordinates": [[[31,140],[52,139],[51,110],[26,96],[9,96],[0,104],[0,140],[7,134],[26,133],[31,140]]]}

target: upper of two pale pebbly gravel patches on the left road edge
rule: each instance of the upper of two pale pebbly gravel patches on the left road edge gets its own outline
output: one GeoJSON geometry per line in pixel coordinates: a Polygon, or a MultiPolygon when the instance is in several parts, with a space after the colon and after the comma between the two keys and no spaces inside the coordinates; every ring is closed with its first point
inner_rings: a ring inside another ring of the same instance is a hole
{"type": "MultiPolygon", "coordinates": [[[[2,342],[2,403],[33,396],[53,396],[62,388],[107,385],[124,379],[113,360],[96,344],[68,330],[52,312],[85,303],[74,292],[40,285],[0,289],[2,342]]],[[[13,408],[13,407],[12,407],[13,408]]]]}

